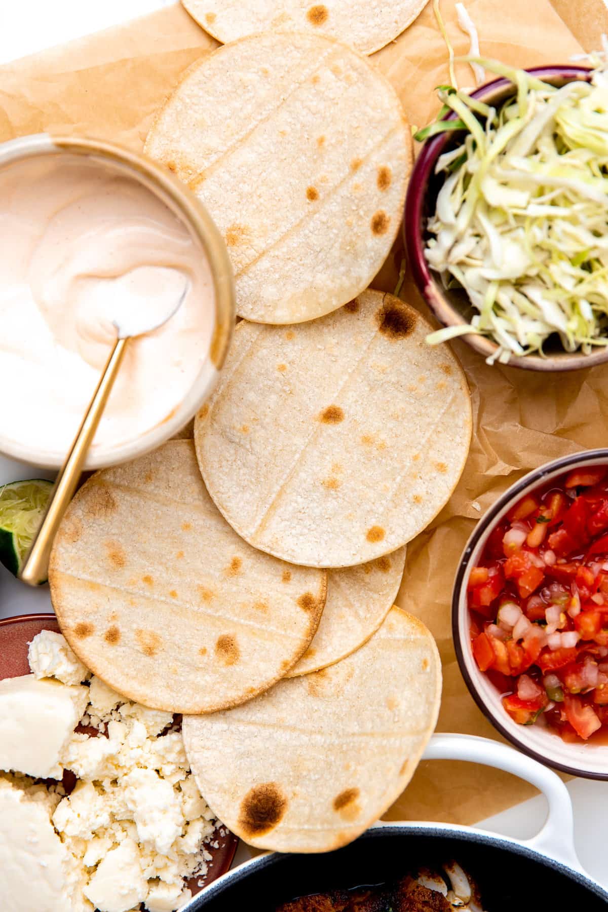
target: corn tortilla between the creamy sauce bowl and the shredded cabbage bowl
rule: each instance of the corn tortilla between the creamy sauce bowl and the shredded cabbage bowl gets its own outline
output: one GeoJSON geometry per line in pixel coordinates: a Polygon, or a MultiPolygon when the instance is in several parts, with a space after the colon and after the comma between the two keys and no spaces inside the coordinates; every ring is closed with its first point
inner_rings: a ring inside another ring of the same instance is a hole
{"type": "Polygon", "coordinates": [[[397,235],[412,140],[386,79],[318,35],[264,34],[198,61],[146,152],[204,203],[239,316],[299,323],[366,288],[397,235]]]}

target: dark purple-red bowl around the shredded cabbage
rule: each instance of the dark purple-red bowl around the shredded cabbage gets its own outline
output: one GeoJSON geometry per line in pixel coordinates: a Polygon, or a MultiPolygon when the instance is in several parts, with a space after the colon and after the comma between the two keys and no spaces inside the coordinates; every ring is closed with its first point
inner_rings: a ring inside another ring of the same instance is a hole
{"type": "MultiPolygon", "coordinates": [[[[554,86],[562,86],[575,79],[584,82],[591,79],[587,67],[531,67],[527,72],[554,86]]],[[[491,107],[500,108],[514,94],[513,84],[508,79],[500,78],[471,92],[471,97],[479,98],[491,107]]],[[[447,119],[455,117],[455,114],[450,114],[447,119]]],[[[435,174],[435,166],[439,156],[458,145],[462,136],[460,131],[440,133],[427,140],[417,156],[407,187],[403,229],[407,257],[420,294],[442,326],[464,326],[477,313],[464,291],[444,288],[441,277],[429,268],[424,254],[428,218],[435,211],[438,192],[444,181],[441,174],[435,174]]],[[[484,358],[489,358],[498,348],[491,338],[478,333],[468,333],[462,338],[484,358]]],[[[555,338],[557,340],[557,336],[555,338]]],[[[566,352],[559,341],[555,344],[552,342],[552,339],[548,342],[545,358],[539,355],[526,355],[522,358],[511,355],[509,366],[544,371],[580,370],[608,361],[608,347],[598,347],[591,355],[583,355],[581,352],[566,352]]]]}

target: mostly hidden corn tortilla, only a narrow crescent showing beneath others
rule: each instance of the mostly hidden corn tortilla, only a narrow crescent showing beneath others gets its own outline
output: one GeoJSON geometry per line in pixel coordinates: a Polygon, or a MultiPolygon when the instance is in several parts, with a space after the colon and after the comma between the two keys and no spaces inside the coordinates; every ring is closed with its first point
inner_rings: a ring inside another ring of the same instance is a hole
{"type": "Polygon", "coordinates": [[[366,643],[395,601],[406,551],[404,545],[369,564],[328,572],[327,599],[319,627],[287,678],[333,665],[366,643]]]}

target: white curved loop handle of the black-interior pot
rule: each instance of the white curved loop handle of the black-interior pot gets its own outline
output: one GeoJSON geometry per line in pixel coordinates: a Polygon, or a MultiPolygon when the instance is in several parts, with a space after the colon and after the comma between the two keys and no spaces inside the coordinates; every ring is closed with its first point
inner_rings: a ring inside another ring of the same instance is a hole
{"type": "Polygon", "coordinates": [[[556,773],[500,741],[474,735],[436,734],[428,742],[423,760],[464,760],[493,766],[531,782],[547,799],[549,814],[541,831],[521,840],[536,852],[549,855],[584,874],[574,848],[574,820],[568,789],[556,773]]]}

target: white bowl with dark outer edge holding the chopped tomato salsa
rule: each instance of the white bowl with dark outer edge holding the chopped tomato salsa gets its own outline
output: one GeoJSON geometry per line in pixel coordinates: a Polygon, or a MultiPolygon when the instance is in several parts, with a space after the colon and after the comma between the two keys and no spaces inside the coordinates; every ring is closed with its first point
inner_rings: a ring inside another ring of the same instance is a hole
{"type": "Polygon", "coordinates": [[[535,491],[564,472],[575,467],[600,464],[608,464],[608,450],[588,450],[547,462],[540,469],[530,472],[519,482],[511,485],[509,490],[489,508],[479,520],[460,558],[452,596],[452,634],[460,671],[471,695],[500,734],[535,760],[547,763],[557,770],[586,779],[608,780],[608,744],[566,743],[558,734],[547,729],[541,729],[536,725],[518,725],[510,718],[509,713],[502,707],[498,689],[488,676],[479,670],[473,658],[467,605],[470,570],[479,563],[489,534],[500,523],[505,513],[509,513],[510,508],[525,494],[535,491]]]}

